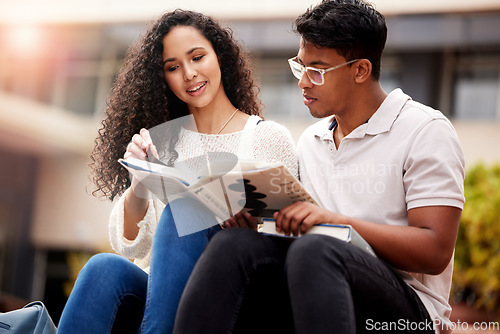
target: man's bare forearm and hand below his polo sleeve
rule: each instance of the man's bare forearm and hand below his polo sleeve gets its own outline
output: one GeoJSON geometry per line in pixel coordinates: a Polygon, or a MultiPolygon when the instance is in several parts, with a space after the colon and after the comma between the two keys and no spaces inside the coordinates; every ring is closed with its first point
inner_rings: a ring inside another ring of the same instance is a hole
{"type": "Polygon", "coordinates": [[[349,224],[396,269],[437,275],[453,255],[462,210],[451,206],[426,206],[408,211],[408,226],[376,224],[346,217],[310,203],[297,202],[275,214],[276,227],[297,235],[311,226],[349,224]]]}

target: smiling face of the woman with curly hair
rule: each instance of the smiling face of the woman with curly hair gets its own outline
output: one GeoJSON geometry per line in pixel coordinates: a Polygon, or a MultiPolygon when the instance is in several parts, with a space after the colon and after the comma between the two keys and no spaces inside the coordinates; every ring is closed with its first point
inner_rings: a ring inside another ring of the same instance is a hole
{"type": "Polygon", "coordinates": [[[203,108],[225,96],[217,55],[198,29],[172,28],[163,38],[162,56],[167,85],[188,107],[203,108]]]}

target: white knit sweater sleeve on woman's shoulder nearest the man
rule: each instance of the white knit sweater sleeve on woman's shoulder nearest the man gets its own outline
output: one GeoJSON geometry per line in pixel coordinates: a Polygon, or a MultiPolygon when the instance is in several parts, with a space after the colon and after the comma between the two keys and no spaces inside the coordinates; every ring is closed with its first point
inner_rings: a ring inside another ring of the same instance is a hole
{"type": "Polygon", "coordinates": [[[273,121],[260,122],[255,127],[253,151],[256,159],[270,163],[281,162],[298,178],[299,165],[295,142],[290,131],[273,121]]]}

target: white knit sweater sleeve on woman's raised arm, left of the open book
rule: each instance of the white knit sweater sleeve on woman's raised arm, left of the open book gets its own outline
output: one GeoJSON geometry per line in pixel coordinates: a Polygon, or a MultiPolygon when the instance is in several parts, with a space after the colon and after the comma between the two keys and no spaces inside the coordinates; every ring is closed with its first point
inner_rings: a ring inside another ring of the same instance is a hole
{"type": "Polygon", "coordinates": [[[134,240],[128,240],[123,236],[125,223],[125,196],[128,191],[132,190],[130,188],[127,189],[118,199],[109,217],[109,239],[111,247],[113,247],[117,253],[127,258],[136,260],[144,259],[146,262],[149,262],[147,258],[151,253],[153,235],[165,205],[155,196],[150,194],[148,210],[144,215],[144,219],[137,224],[139,226],[139,233],[134,240]]]}

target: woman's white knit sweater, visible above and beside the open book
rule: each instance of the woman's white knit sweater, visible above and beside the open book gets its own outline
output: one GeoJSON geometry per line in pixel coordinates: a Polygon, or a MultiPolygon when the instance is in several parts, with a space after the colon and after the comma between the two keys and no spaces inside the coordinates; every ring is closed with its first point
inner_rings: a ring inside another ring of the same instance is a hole
{"type": "MultiPolygon", "coordinates": [[[[242,131],[221,135],[202,134],[182,128],[176,145],[179,154],[176,161],[190,161],[192,165],[189,168],[196,172],[204,167],[195,165],[196,161],[203,160],[190,158],[202,156],[207,152],[221,152],[221,156],[224,153],[232,153],[239,159],[281,162],[297,176],[297,155],[290,132],[276,122],[259,123],[259,120],[258,116],[250,116],[242,131]]],[[[128,191],[131,189],[126,190],[128,191]]],[[[109,218],[111,246],[117,253],[134,259],[139,267],[149,271],[153,236],[165,204],[150,194],[148,210],[144,219],[138,223],[139,233],[135,240],[127,240],[123,236],[126,192],[117,200],[109,218]]]]}

